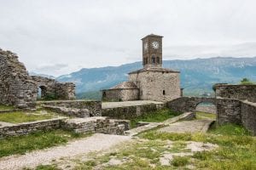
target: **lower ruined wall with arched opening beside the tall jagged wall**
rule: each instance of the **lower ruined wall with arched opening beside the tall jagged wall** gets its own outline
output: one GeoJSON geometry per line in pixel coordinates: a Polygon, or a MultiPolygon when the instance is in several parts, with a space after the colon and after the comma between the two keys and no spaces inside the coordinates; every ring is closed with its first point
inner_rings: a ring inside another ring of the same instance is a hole
{"type": "Polygon", "coordinates": [[[38,88],[41,88],[41,98],[52,95],[55,99],[75,99],[75,84],[73,82],[56,82],[55,79],[32,76],[38,88]]]}

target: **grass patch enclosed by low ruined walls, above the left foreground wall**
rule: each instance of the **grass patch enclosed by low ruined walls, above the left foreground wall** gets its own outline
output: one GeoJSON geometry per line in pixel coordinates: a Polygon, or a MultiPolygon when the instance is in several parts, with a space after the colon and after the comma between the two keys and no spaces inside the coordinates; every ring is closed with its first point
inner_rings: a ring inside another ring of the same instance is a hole
{"type": "Polygon", "coordinates": [[[55,117],[53,112],[47,111],[47,113],[41,114],[40,111],[25,112],[14,111],[9,113],[0,114],[0,122],[20,123],[20,122],[34,122],[44,119],[51,119],[55,117]]]}

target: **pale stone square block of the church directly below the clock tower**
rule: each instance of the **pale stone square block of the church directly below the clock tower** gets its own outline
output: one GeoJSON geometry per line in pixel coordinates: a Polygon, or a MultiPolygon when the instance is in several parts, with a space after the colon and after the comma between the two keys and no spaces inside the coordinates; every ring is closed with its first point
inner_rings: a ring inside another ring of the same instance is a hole
{"type": "Polygon", "coordinates": [[[140,99],[169,101],[181,96],[179,72],[143,71],[130,73],[129,81],[140,88],[140,99]]]}

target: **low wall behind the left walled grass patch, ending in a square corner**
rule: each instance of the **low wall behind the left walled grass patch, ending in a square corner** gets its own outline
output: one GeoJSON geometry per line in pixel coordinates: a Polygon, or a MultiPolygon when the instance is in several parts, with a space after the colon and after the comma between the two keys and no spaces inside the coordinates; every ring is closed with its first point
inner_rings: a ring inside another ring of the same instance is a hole
{"type": "Polygon", "coordinates": [[[64,108],[73,108],[79,110],[88,110],[90,116],[102,116],[101,101],[86,101],[86,100],[56,100],[38,102],[41,105],[50,105],[64,108]]]}

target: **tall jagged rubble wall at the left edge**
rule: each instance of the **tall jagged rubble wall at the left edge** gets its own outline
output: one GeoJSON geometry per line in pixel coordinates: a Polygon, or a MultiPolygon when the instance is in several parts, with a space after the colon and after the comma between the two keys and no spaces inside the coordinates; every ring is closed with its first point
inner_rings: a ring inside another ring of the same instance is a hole
{"type": "Polygon", "coordinates": [[[20,109],[36,106],[37,85],[28,76],[18,56],[0,48],[0,104],[20,109]]]}

